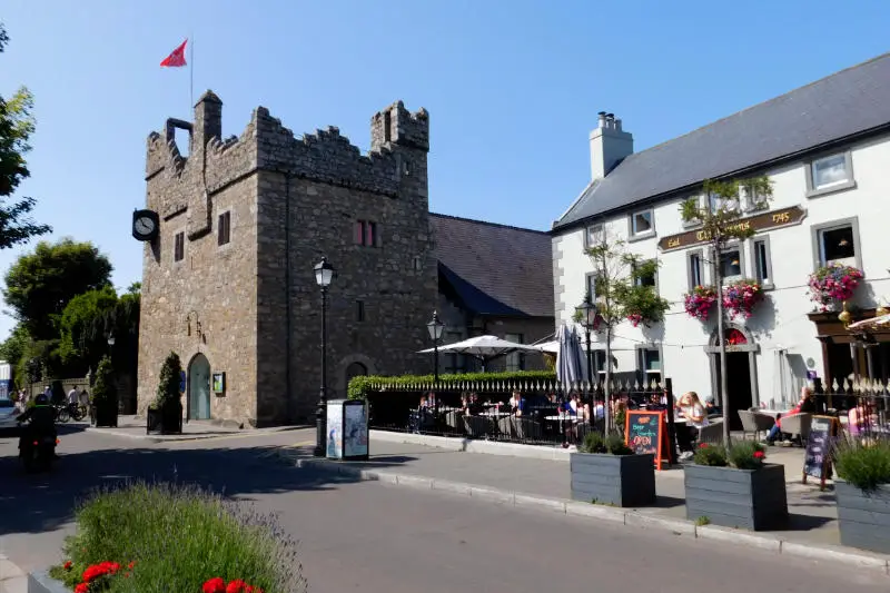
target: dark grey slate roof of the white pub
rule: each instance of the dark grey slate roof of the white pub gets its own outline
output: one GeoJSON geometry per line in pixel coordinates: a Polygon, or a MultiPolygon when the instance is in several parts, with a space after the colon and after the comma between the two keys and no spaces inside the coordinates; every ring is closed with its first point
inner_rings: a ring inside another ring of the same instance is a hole
{"type": "Polygon", "coordinates": [[[890,122],[890,53],[625,158],[554,223],[581,219],[890,122]]]}

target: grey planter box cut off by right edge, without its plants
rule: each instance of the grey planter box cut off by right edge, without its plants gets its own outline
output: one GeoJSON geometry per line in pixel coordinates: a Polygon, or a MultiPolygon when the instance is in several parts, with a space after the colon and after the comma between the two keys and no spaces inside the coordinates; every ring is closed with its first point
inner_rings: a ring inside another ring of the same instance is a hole
{"type": "Polygon", "coordinates": [[[890,484],[862,492],[834,481],[841,544],[890,554],[890,484]]]}

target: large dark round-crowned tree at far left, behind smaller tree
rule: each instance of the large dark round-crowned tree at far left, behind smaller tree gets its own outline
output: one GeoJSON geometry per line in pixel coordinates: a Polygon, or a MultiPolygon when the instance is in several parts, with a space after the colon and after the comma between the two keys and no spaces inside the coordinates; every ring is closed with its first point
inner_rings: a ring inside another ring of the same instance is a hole
{"type": "Polygon", "coordinates": [[[33,339],[58,339],[65,307],[77,295],[108,286],[111,269],[91,243],[40,241],[7,271],[3,298],[33,339]]]}

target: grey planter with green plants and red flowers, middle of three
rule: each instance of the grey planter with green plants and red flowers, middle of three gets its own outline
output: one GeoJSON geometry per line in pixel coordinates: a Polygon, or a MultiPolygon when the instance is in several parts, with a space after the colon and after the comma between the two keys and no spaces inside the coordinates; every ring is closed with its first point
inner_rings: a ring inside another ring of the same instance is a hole
{"type": "Polygon", "coordinates": [[[785,470],[765,457],[759,443],[732,443],[729,449],[702,445],[683,470],[686,518],[753,531],[785,526],[785,470]]]}

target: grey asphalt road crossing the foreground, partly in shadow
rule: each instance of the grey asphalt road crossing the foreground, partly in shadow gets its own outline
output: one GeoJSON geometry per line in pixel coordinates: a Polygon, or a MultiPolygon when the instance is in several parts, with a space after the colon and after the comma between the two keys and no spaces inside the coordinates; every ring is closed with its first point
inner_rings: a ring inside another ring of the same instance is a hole
{"type": "Polygon", "coordinates": [[[886,593],[890,577],[847,565],[521,511],[435,492],[354,483],[283,465],[263,437],[149,445],[62,434],[51,474],[20,472],[16,441],[0,435],[0,552],[26,570],[59,559],[77,500],[126,477],[199,482],[279,513],[300,541],[309,591],[444,593],[640,591],[886,593]]]}

